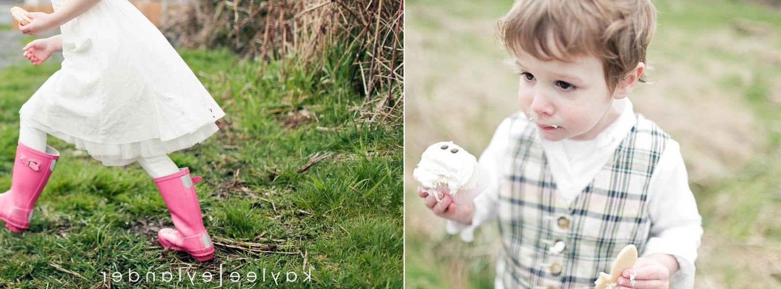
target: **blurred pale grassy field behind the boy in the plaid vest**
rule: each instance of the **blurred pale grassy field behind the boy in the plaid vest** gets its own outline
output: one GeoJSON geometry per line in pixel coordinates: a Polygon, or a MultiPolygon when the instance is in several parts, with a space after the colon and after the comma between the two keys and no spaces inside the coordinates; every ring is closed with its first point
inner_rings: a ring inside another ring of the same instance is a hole
{"type": "MultiPolygon", "coordinates": [[[[492,287],[495,223],[473,244],[415,196],[426,146],[479,155],[517,111],[494,25],[512,1],[407,1],[405,277],[412,288],[492,287]]],[[[703,217],[696,288],[781,287],[781,2],[654,1],[658,30],[635,109],[681,143],[703,217]]]]}

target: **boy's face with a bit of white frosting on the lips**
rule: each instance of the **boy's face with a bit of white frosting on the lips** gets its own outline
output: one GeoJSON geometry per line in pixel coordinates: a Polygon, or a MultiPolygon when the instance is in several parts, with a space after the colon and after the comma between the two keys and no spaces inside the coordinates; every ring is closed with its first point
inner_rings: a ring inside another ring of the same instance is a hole
{"type": "Polygon", "coordinates": [[[594,139],[606,127],[612,97],[598,58],[541,61],[521,51],[515,64],[521,109],[544,139],[594,139]]]}

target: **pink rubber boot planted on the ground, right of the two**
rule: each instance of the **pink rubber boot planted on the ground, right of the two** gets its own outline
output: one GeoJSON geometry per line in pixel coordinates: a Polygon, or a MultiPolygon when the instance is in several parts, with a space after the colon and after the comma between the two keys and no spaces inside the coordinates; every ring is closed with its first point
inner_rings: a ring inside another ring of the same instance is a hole
{"type": "Polygon", "coordinates": [[[176,174],[155,178],[162,200],[171,212],[171,220],[176,229],[163,228],[157,233],[157,241],[164,248],[184,251],[198,262],[212,259],[214,246],[209,233],[203,227],[201,206],[195,195],[193,183],[201,177],[190,178],[190,169],[180,168],[176,174]]]}

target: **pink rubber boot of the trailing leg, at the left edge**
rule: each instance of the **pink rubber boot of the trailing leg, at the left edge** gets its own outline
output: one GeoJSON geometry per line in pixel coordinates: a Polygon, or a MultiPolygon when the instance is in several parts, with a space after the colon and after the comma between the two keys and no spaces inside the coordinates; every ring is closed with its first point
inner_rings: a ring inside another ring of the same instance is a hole
{"type": "Polygon", "coordinates": [[[46,152],[42,153],[18,143],[11,189],[0,194],[0,220],[5,220],[9,230],[21,233],[30,227],[35,201],[41,196],[57,159],[59,152],[52,146],[46,146],[46,152]]]}

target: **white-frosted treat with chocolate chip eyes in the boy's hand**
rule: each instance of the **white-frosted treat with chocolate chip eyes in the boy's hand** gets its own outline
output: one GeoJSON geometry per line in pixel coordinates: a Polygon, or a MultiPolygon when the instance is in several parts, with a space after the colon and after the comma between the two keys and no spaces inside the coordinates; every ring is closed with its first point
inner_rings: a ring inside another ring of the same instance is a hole
{"type": "Polygon", "coordinates": [[[440,192],[451,196],[476,185],[477,159],[453,142],[434,143],[423,152],[412,172],[424,192],[440,200],[440,192]]]}

